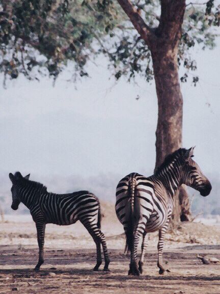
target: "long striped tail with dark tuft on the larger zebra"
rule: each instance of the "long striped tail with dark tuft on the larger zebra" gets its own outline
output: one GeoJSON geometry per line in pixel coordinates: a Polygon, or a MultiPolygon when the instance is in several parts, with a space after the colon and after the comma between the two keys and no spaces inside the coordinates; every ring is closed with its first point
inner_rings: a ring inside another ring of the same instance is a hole
{"type": "Polygon", "coordinates": [[[133,232],[134,232],[134,190],[135,190],[136,180],[132,177],[130,181],[130,205],[131,205],[131,214],[129,216],[129,221],[127,224],[126,232],[126,245],[125,253],[133,249],[133,232]]]}

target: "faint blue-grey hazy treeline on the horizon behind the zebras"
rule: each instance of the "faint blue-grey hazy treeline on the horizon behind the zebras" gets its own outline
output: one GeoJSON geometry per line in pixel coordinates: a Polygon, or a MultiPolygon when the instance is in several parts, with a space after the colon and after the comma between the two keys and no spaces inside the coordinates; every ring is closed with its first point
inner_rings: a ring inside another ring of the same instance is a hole
{"type": "MultiPolygon", "coordinates": [[[[150,175],[150,173],[146,174],[150,175]]],[[[78,190],[89,190],[97,195],[100,200],[115,202],[115,189],[119,180],[124,175],[101,174],[92,177],[82,176],[53,176],[40,177],[39,175],[31,175],[30,179],[40,181],[47,186],[49,192],[54,193],[69,193],[78,190]]],[[[191,200],[191,211],[193,214],[219,214],[220,215],[220,180],[216,175],[207,175],[212,184],[211,194],[207,197],[202,197],[196,190],[188,188],[188,193],[191,200]]],[[[4,213],[11,214],[14,211],[11,209],[11,183],[8,174],[0,178],[0,208],[4,213]]],[[[19,214],[29,212],[24,205],[20,205],[19,214]]]]}

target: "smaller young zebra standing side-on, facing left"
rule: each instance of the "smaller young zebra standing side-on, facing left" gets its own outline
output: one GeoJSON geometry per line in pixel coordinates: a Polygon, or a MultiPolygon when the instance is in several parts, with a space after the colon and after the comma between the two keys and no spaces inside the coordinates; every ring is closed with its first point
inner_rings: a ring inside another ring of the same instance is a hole
{"type": "Polygon", "coordinates": [[[104,271],[109,271],[110,262],[105,242],[105,236],[101,232],[101,210],[98,198],[89,191],[78,191],[69,194],[55,194],[47,191],[47,188],[38,182],[29,180],[30,174],[22,177],[17,171],[9,174],[12,182],[12,205],[17,210],[20,202],[30,209],[37,228],[39,246],[39,260],[35,271],[39,271],[44,262],[44,235],[46,224],[67,226],[80,220],[82,225],[92,236],[97,251],[97,263],[93,268],[98,271],[102,263],[101,244],[104,253],[104,271]]]}

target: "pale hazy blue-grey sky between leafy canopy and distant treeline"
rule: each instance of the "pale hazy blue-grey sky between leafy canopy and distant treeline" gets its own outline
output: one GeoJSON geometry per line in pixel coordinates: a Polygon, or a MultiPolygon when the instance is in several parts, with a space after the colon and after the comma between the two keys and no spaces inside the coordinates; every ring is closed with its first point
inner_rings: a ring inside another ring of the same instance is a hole
{"type": "MultiPolygon", "coordinates": [[[[196,145],[195,160],[204,173],[219,174],[220,42],[213,51],[194,49],[200,77],[181,84],[184,97],[183,146],[196,145]],[[210,106],[209,106],[210,104],[210,106]]],[[[155,85],[109,79],[104,59],[90,65],[91,78],[30,82],[2,87],[1,175],[16,170],[41,177],[93,176],[101,173],[149,175],[155,163],[157,99],[155,85]],[[137,101],[137,94],[140,99],[137,101]]]]}

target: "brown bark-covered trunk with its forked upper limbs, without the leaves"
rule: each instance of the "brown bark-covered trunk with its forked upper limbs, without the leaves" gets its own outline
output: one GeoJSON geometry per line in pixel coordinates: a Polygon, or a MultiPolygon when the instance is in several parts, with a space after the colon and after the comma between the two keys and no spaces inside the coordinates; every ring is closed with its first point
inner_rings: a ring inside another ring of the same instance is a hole
{"type": "MultiPolygon", "coordinates": [[[[156,167],[182,146],[183,98],[178,76],[178,45],[185,0],[161,0],[159,26],[151,29],[130,0],[118,0],[133,26],[148,45],[153,61],[158,99],[156,167]]],[[[156,168],[155,167],[155,168],[156,168]]],[[[189,201],[184,187],[175,199],[175,220],[189,220],[189,201]]]]}

